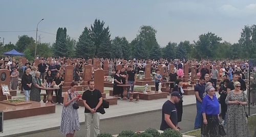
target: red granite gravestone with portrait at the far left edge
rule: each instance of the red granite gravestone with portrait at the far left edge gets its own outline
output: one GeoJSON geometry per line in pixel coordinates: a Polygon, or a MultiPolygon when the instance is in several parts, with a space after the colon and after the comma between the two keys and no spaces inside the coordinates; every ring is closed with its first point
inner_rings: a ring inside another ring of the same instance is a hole
{"type": "MultiPolygon", "coordinates": [[[[9,80],[10,80],[10,71],[7,70],[7,69],[0,69],[0,101],[3,101],[3,100],[6,100],[7,97],[6,95],[3,94],[3,91],[2,91],[2,85],[7,85],[8,88],[9,88],[9,80]]],[[[9,88],[10,90],[10,88],[9,88]]],[[[8,98],[11,99],[12,96],[11,95],[8,95],[8,98]]]]}

